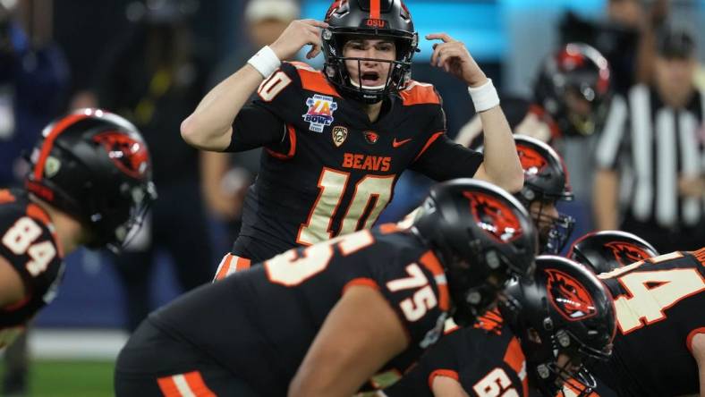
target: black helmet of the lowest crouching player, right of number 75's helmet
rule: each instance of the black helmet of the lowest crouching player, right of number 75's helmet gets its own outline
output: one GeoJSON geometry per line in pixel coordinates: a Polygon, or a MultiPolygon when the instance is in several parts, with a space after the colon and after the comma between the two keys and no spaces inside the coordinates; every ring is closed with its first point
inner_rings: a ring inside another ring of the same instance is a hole
{"type": "Polygon", "coordinates": [[[581,396],[595,387],[586,365],[612,351],[616,319],[609,292],[584,266],[556,256],[536,258],[534,281],[517,280],[499,309],[519,338],[527,375],[544,395],[570,381],[581,396]]]}

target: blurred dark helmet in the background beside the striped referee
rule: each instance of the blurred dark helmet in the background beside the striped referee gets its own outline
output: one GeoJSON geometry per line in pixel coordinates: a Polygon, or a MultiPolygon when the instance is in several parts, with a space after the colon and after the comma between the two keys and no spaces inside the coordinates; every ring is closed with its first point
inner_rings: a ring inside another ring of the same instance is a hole
{"type": "Polygon", "coordinates": [[[569,43],[541,65],[534,102],[550,114],[562,134],[591,135],[607,119],[610,84],[607,59],[587,44],[569,43]],[[580,112],[569,105],[579,100],[589,109],[580,112]]]}

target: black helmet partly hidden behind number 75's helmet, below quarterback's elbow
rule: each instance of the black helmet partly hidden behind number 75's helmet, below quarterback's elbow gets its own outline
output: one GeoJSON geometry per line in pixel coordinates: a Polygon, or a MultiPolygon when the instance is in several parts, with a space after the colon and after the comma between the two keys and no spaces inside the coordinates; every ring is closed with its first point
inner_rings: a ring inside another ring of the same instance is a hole
{"type": "Polygon", "coordinates": [[[539,230],[539,252],[557,255],[570,238],[575,219],[560,213],[548,214],[546,206],[555,206],[559,200],[573,200],[568,170],[563,158],[539,139],[514,135],[514,142],[524,172],[523,188],[515,196],[529,209],[539,230]],[[535,201],[539,203],[538,212],[531,209],[535,201]]]}

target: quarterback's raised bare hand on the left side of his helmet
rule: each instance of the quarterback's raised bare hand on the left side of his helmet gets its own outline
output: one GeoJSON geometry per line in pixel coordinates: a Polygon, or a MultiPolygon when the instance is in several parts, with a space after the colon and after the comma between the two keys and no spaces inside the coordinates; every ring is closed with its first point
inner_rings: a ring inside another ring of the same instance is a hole
{"type": "Polygon", "coordinates": [[[279,59],[284,61],[292,59],[303,46],[310,45],[311,49],[306,57],[313,58],[320,53],[320,30],[327,27],[328,24],[322,21],[293,21],[269,47],[279,59]]]}

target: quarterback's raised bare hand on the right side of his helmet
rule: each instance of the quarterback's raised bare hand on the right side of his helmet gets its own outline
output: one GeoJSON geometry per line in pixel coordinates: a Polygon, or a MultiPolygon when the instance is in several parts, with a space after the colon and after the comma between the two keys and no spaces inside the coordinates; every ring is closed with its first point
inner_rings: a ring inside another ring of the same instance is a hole
{"type": "Polygon", "coordinates": [[[463,42],[454,40],[446,33],[433,33],[426,36],[427,40],[441,40],[433,45],[431,66],[443,68],[469,87],[478,87],[487,82],[487,76],[480,66],[472,59],[463,42]]]}

